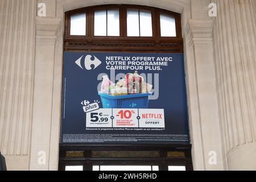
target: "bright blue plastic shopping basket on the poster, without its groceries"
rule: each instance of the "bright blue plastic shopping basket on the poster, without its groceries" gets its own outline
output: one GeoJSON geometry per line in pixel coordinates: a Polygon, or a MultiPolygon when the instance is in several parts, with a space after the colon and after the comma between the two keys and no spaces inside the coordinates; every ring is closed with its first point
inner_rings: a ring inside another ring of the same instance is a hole
{"type": "Polygon", "coordinates": [[[101,96],[103,108],[117,109],[147,109],[149,96],[152,96],[152,93],[129,94],[125,96],[111,96],[100,92],[98,94],[101,96]]]}

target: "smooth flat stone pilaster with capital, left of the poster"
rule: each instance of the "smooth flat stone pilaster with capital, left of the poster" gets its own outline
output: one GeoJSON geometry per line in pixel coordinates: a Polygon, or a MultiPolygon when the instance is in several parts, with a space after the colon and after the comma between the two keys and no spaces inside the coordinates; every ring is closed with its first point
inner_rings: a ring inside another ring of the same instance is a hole
{"type": "MultiPolygon", "coordinates": [[[[50,159],[53,160],[50,156],[52,154],[52,122],[54,122],[52,119],[52,93],[56,34],[59,29],[59,18],[36,17],[35,86],[30,159],[31,170],[49,170],[51,163],[50,159]]],[[[54,140],[56,139],[57,138],[54,140]]],[[[57,159],[58,154],[56,153],[54,155],[57,159]]],[[[57,160],[55,163],[57,163],[57,160]]],[[[57,164],[55,164],[55,166],[57,167],[57,164]]]]}

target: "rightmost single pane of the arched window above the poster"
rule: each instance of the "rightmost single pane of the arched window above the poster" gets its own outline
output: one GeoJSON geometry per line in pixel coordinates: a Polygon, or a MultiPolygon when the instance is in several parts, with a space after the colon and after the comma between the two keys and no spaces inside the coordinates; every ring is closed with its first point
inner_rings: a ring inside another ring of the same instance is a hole
{"type": "Polygon", "coordinates": [[[175,18],[168,15],[160,15],[161,36],[176,36],[175,18]]]}

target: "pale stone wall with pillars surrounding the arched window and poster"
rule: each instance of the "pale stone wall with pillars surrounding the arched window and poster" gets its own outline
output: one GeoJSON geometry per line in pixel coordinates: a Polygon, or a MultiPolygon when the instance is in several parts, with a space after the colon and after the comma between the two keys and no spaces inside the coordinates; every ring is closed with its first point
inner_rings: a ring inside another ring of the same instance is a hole
{"type": "Polygon", "coordinates": [[[8,169],[57,170],[64,12],[114,3],[181,14],[194,169],[256,169],[254,0],[37,2],[47,17],[36,17],[36,0],[0,1],[0,150],[8,169]],[[210,2],[217,17],[208,16],[210,2]]]}

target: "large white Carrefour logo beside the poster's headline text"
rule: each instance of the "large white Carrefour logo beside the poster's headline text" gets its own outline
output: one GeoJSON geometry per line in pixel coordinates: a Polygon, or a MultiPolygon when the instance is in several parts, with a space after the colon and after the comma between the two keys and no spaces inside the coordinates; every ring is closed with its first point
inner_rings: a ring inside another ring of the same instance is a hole
{"type": "Polygon", "coordinates": [[[95,56],[87,55],[85,57],[81,56],[79,59],[76,60],[75,63],[79,65],[81,69],[91,70],[91,69],[96,69],[101,64],[101,61],[95,56]],[[92,60],[92,57],[93,57],[93,60],[92,60]],[[92,65],[94,65],[93,68],[92,68],[92,65]]]}

